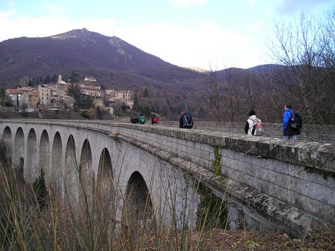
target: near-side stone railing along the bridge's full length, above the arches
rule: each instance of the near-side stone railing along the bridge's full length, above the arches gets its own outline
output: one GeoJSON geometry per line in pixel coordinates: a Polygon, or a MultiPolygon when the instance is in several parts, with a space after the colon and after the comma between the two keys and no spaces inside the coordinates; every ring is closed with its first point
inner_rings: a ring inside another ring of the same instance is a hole
{"type": "MultiPolygon", "coordinates": [[[[3,121],[1,123],[5,123],[3,121]]],[[[21,123],[24,123],[22,121],[21,123]]],[[[200,180],[228,202],[231,229],[299,236],[335,226],[335,144],[107,121],[36,121],[110,135],[200,180]],[[214,149],[221,174],[214,173],[214,149]]]]}

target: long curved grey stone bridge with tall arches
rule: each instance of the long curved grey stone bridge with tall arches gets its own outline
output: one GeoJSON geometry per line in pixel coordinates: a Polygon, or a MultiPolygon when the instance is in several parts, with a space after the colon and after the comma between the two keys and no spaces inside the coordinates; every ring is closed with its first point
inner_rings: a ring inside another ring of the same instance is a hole
{"type": "MultiPolygon", "coordinates": [[[[333,133],[334,134],[334,133],[333,133]]],[[[139,227],[194,228],[200,182],[225,201],[228,228],[300,236],[335,226],[335,144],[110,121],[0,120],[14,169],[82,203],[98,190],[139,227]],[[214,165],[218,162],[219,165],[214,165]]]]}

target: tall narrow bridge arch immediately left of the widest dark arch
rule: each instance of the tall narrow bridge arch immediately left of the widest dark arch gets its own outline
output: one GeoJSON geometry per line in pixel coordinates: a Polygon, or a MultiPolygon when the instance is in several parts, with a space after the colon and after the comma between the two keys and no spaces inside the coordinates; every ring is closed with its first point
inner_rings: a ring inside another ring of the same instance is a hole
{"type": "Polygon", "coordinates": [[[113,185],[113,170],[112,170],[112,158],[107,148],[104,148],[100,155],[98,165],[98,177],[97,177],[97,199],[98,203],[110,213],[114,212],[116,208],[113,208],[115,190],[113,185]],[[114,209],[114,210],[113,210],[114,209]]]}

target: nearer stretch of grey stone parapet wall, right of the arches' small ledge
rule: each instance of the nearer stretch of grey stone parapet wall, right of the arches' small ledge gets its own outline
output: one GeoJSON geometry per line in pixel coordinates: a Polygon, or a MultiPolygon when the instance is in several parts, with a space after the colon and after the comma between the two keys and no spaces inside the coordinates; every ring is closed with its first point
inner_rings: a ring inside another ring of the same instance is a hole
{"type": "MultiPolygon", "coordinates": [[[[254,208],[268,220],[280,219],[283,228],[335,225],[334,144],[130,124],[122,125],[120,133],[174,153],[193,168],[207,169],[202,178],[214,172],[216,146],[225,189],[238,204],[254,208]]],[[[213,183],[219,179],[211,176],[206,182],[222,195],[221,184],[213,183]]]]}

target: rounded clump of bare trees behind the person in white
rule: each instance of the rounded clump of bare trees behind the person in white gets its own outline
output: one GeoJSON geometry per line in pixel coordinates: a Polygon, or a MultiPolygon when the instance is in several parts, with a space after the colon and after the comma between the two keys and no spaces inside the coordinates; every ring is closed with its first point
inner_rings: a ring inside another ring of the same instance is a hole
{"type": "Polygon", "coordinates": [[[262,79],[250,70],[210,70],[201,91],[200,105],[215,121],[244,121],[251,109],[262,109],[262,79]]]}

